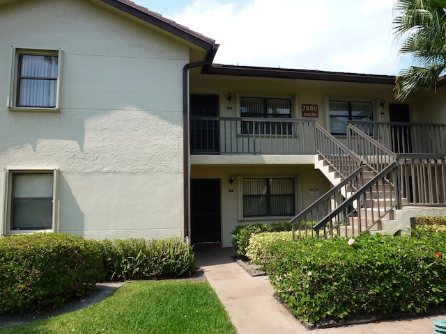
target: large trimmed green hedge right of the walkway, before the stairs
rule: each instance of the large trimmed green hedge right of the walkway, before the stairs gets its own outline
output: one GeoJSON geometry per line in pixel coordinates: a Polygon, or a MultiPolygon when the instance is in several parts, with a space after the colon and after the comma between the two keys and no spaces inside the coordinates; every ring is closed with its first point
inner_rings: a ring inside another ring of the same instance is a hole
{"type": "Polygon", "coordinates": [[[267,273],[301,321],[425,312],[446,299],[446,232],[272,244],[267,273]]]}

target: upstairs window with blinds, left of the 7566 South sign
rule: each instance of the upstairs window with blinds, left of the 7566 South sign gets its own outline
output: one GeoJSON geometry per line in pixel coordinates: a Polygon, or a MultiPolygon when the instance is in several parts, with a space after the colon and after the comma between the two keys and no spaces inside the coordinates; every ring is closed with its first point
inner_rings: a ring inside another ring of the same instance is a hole
{"type": "MultiPolygon", "coordinates": [[[[291,99],[241,97],[240,116],[243,118],[291,118],[291,99]]],[[[243,134],[292,134],[291,122],[245,121],[243,134]]]]}

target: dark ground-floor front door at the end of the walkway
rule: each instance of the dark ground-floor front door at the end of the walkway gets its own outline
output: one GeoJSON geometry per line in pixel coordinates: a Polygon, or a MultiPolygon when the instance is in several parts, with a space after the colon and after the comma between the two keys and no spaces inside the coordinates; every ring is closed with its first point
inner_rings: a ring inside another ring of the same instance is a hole
{"type": "Polygon", "coordinates": [[[191,242],[196,246],[221,246],[221,181],[194,179],[190,184],[191,242]]]}

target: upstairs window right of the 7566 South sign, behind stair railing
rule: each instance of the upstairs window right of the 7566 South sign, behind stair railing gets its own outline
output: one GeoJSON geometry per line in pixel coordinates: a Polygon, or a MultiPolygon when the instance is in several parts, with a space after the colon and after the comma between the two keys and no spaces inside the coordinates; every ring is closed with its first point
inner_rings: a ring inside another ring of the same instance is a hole
{"type": "Polygon", "coordinates": [[[348,120],[373,120],[371,102],[330,101],[330,132],[346,136],[348,120]]]}

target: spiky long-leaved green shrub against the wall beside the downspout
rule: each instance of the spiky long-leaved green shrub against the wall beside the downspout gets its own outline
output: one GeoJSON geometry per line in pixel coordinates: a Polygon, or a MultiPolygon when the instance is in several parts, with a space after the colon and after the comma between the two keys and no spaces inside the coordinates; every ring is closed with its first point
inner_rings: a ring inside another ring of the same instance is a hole
{"type": "Polygon", "coordinates": [[[189,241],[171,239],[116,239],[98,241],[107,280],[144,280],[181,276],[194,270],[189,241]]]}

